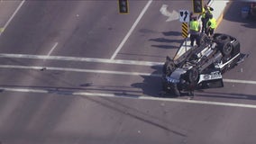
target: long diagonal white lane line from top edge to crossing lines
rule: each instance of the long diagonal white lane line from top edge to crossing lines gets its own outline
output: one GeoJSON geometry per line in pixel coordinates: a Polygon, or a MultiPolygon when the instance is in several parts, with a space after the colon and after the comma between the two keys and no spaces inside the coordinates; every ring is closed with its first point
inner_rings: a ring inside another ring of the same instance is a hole
{"type": "Polygon", "coordinates": [[[117,47],[117,49],[114,51],[114,54],[112,55],[112,57],[110,59],[114,59],[117,55],[117,53],[122,49],[123,44],[125,43],[126,40],[128,40],[128,38],[130,37],[130,35],[132,34],[133,30],[135,29],[135,27],[137,26],[137,24],[141,21],[142,16],[145,14],[145,12],[147,11],[147,9],[150,7],[152,3],[152,0],[149,0],[148,3],[145,5],[145,7],[142,9],[141,14],[138,16],[138,18],[136,19],[135,23],[133,23],[133,26],[131,27],[131,29],[128,31],[128,33],[125,35],[125,37],[123,38],[122,42],[119,44],[119,46],[117,47]]]}

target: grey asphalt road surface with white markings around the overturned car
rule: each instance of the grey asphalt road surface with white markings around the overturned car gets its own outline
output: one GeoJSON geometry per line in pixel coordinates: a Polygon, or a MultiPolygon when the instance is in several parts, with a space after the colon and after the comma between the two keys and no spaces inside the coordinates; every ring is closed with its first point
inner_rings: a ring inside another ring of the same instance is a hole
{"type": "MultiPolygon", "coordinates": [[[[160,97],[161,64],[180,44],[181,23],[163,4],[190,1],[26,1],[0,37],[2,144],[241,144],[256,138],[255,22],[228,4],[218,32],[249,58],[224,88],[160,97]]],[[[189,2],[189,3],[187,3],[189,2]]]]}

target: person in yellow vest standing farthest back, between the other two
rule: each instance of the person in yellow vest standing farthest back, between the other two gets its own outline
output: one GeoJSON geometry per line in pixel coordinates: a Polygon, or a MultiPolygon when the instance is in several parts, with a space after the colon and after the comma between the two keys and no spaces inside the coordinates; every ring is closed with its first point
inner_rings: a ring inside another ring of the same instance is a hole
{"type": "Polygon", "coordinates": [[[206,23],[209,21],[209,15],[212,14],[211,11],[214,9],[207,4],[203,7],[203,12],[201,15],[201,22],[202,22],[202,32],[206,33],[206,23]]]}

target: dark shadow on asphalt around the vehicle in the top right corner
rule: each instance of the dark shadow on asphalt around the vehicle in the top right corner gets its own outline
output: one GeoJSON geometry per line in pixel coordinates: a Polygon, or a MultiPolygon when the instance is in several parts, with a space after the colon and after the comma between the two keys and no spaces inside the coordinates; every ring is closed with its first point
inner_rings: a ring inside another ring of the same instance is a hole
{"type": "Polygon", "coordinates": [[[242,18],[242,8],[250,7],[250,3],[232,1],[227,5],[224,12],[224,20],[242,23],[242,26],[248,28],[256,28],[256,18],[253,18],[250,14],[247,18],[242,18]],[[234,16],[236,15],[236,16],[234,16]]]}

